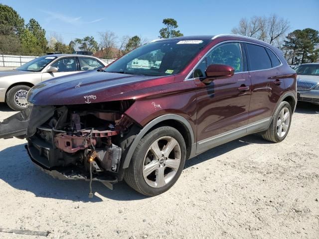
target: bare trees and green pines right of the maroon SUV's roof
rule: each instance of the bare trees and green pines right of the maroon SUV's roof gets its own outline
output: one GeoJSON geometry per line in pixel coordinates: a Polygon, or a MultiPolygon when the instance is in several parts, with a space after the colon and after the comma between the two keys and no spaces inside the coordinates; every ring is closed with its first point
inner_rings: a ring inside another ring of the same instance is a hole
{"type": "Polygon", "coordinates": [[[312,28],[297,29],[288,33],[288,20],[272,14],[269,17],[242,18],[234,34],[254,37],[268,42],[283,51],[289,64],[297,65],[319,61],[319,31],[312,28]]]}

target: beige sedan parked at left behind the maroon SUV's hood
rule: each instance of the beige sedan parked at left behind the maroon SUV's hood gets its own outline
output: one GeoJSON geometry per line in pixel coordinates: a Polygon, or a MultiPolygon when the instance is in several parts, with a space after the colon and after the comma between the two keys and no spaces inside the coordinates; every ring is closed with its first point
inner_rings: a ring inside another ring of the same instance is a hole
{"type": "Polygon", "coordinates": [[[53,77],[97,70],[107,64],[94,56],[53,54],[35,58],[22,66],[0,72],[0,102],[12,110],[27,106],[26,95],[34,85],[53,77]]]}

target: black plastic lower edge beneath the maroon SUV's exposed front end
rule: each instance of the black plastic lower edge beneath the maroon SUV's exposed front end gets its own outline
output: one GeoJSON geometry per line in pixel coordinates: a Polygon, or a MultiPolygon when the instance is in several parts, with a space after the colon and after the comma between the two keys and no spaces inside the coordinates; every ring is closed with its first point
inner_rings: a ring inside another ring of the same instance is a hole
{"type": "MultiPolygon", "coordinates": [[[[80,169],[77,169],[74,166],[69,167],[54,167],[52,169],[48,168],[50,165],[49,159],[43,156],[43,151],[47,150],[41,146],[34,147],[30,145],[28,140],[28,145],[25,145],[25,148],[28,152],[31,161],[43,172],[57,178],[60,180],[84,180],[90,181],[90,176],[88,174],[82,173],[80,169]]],[[[111,175],[95,176],[92,178],[92,181],[98,181],[103,183],[106,187],[113,190],[113,184],[118,182],[117,177],[111,175]]]]}

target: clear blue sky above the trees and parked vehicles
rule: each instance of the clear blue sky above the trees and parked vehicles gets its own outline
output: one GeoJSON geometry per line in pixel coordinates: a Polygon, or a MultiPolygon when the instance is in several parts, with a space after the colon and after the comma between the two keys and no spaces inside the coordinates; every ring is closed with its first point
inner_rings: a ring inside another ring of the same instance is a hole
{"type": "Polygon", "coordinates": [[[319,30],[319,0],[0,0],[13,7],[27,22],[35,18],[47,31],[65,43],[99,31],[119,37],[159,36],[163,18],[175,18],[184,35],[230,33],[242,17],[268,16],[288,19],[293,31],[319,30]]]}

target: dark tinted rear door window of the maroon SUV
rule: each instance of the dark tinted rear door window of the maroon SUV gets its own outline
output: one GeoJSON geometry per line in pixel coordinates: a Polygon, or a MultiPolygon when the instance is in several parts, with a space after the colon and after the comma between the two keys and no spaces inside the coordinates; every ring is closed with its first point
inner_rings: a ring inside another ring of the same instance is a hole
{"type": "Polygon", "coordinates": [[[248,50],[248,66],[250,71],[272,68],[271,61],[263,46],[246,44],[248,50]]]}

